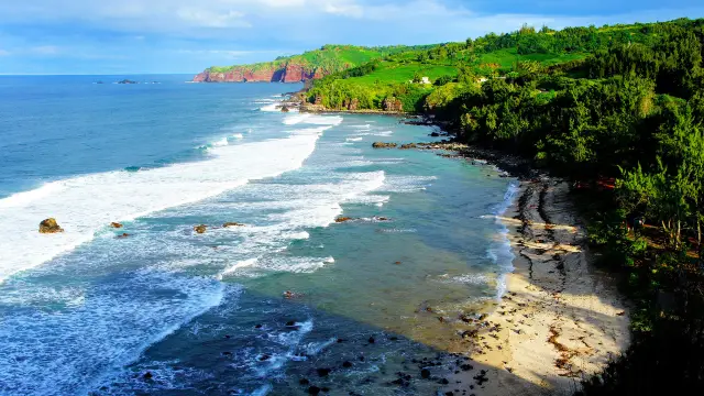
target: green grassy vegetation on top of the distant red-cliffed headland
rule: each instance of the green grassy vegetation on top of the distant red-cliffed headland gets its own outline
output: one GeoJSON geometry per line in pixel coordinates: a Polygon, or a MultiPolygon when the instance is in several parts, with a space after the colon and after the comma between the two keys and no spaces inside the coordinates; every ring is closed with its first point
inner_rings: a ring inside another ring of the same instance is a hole
{"type": "Polygon", "coordinates": [[[300,55],[279,56],[272,62],[262,62],[252,65],[234,65],[234,66],[212,66],[206,72],[227,73],[234,68],[244,68],[248,70],[270,70],[285,67],[287,64],[296,64],[309,67],[310,69],[320,69],[324,74],[344,70],[350,67],[363,65],[372,59],[381,58],[386,55],[393,55],[407,51],[427,50],[431,45],[394,45],[394,46],[376,46],[364,47],[354,45],[324,45],[319,50],[307,51],[300,55]]]}

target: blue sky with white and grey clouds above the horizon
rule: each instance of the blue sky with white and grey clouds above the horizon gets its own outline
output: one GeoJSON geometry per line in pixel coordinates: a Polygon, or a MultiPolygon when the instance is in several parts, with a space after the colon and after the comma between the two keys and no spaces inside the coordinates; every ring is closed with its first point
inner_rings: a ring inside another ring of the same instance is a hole
{"type": "Polygon", "coordinates": [[[0,74],[196,74],[324,44],[704,16],[702,0],[0,0],[0,74]]]}

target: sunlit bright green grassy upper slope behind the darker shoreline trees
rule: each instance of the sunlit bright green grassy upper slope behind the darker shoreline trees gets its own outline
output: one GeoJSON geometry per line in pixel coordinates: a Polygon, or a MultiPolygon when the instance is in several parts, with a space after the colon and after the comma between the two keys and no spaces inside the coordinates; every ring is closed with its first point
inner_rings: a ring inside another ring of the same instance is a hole
{"type": "Polygon", "coordinates": [[[404,110],[420,112],[425,106],[422,98],[442,85],[440,82],[472,85],[483,78],[510,78],[526,72],[559,68],[557,65],[570,62],[576,64],[614,45],[652,45],[661,36],[661,25],[638,23],[561,31],[524,26],[516,32],[490,33],[463,43],[397,47],[360,67],[338,68],[337,73],[315,82],[308,96],[311,102],[316,97],[321,99],[327,109],[342,109],[343,105],[358,99],[359,110],[381,109],[385,98],[396,97],[405,103],[404,110]],[[428,77],[436,86],[409,84],[421,77],[428,77]]]}

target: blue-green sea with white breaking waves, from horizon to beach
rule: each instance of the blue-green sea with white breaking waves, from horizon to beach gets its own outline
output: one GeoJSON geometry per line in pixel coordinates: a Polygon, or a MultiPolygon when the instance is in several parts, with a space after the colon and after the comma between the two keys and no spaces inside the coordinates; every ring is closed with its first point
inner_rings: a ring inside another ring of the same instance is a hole
{"type": "Polygon", "coordinates": [[[0,394],[432,392],[389,376],[501,292],[510,179],[373,150],[436,140],[396,118],[272,111],[297,86],[98,79],[0,78],[0,394]]]}

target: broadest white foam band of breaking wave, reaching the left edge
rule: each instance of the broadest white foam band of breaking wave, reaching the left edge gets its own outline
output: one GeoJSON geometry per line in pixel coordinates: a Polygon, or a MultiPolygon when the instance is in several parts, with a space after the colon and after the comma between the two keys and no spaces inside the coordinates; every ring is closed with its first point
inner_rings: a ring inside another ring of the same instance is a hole
{"type": "MultiPolygon", "coordinates": [[[[331,123],[339,121],[333,118],[331,123]]],[[[12,228],[0,230],[0,282],[91,240],[112,221],[199,201],[298,168],[314,152],[319,132],[217,146],[208,161],[74,177],[2,199],[0,223],[12,228]],[[37,232],[40,221],[50,217],[64,233],[37,232]]]]}

